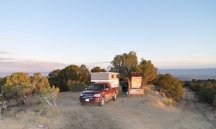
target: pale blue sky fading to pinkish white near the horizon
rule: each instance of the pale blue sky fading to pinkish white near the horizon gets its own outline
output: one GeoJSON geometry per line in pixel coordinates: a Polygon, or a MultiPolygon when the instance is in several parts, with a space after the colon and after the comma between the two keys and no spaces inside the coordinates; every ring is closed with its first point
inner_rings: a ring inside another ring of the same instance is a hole
{"type": "Polygon", "coordinates": [[[135,51],[159,69],[216,67],[215,0],[0,0],[0,73],[108,67],[135,51]]]}

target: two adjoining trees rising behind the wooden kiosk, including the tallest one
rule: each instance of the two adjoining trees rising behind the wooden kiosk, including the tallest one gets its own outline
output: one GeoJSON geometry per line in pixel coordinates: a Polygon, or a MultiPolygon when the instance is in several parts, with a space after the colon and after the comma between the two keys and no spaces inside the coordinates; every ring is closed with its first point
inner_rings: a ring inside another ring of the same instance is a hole
{"type": "Polygon", "coordinates": [[[141,62],[138,62],[137,55],[133,51],[116,55],[111,64],[110,71],[118,72],[120,78],[123,79],[129,77],[131,72],[140,73],[143,76],[143,84],[149,83],[157,78],[158,70],[152,62],[143,58],[141,62]]]}

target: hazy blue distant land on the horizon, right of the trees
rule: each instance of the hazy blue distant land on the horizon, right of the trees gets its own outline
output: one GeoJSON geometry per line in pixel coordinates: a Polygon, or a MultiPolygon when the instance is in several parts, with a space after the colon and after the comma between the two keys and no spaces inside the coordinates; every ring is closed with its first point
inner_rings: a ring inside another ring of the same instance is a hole
{"type": "Polygon", "coordinates": [[[181,80],[216,79],[216,68],[206,69],[159,69],[159,73],[170,73],[181,80]]]}

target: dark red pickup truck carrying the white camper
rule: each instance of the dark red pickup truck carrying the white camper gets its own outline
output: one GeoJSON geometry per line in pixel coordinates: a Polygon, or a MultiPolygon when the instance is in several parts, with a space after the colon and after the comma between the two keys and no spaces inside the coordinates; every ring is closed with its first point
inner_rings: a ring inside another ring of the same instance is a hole
{"type": "Polygon", "coordinates": [[[108,82],[97,82],[91,84],[86,90],[80,93],[80,103],[97,103],[103,106],[106,101],[116,100],[118,87],[112,88],[108,82]]]}

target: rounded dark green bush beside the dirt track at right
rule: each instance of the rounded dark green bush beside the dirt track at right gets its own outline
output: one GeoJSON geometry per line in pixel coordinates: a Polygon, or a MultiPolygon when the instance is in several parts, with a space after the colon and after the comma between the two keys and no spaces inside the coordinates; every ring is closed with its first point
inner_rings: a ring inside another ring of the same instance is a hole
{"type": "Polygon", "coordinates": [[[182,82],[170,74],[159,75],[155,85],[165,90],[166,94],[176,101],[184,94],[182,82]]]}

